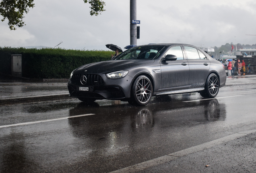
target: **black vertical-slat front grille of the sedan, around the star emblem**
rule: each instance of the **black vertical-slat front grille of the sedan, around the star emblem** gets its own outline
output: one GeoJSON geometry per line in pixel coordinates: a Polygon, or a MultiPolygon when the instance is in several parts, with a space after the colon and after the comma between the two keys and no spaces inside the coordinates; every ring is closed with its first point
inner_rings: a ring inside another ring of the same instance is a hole
{"type": "Polygon", "coordinates": [[[104,83],[103,79],[98,74],[73,74],[71,82],[76,85],[82,85],[80,82],[82,75],[85,75],[87,78],[87,83],[84,86],[99,86],[104,83]]]}

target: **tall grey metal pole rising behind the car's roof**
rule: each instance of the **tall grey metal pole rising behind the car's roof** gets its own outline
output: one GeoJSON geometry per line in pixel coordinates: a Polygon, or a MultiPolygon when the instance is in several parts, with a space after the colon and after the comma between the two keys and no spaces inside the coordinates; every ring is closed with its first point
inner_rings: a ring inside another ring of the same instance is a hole
{"type": "Polygon", "coordinates": [[[130,0],[130,45],[137,45],[137,24],[132,24],[132,20],[137,20],[137,0],[130,0]]]}

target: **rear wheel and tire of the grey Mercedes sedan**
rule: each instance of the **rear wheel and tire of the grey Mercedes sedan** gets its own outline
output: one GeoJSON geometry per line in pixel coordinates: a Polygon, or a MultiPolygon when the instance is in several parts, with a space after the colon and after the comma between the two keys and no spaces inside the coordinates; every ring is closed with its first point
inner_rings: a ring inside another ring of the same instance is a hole
{"type": "Polygon", "coordinates": [[[205,82],[204,91],[200,92],[202,97],[214,98],[219,93],[219,78],[211,73],[205,82]]]}

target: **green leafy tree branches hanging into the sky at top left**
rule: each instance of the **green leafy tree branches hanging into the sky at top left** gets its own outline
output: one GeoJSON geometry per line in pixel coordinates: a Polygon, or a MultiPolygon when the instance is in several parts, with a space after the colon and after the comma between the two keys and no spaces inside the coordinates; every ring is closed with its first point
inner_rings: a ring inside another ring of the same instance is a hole
{"type": "MultiPolygon", "coordinates": [[[[101,12],[105,11],[105,2],[102,0],[83,0],[85,3],[91,4],[90,15],[98,16],[101,12]]],[[[29,8],[33,8],[34,0],[2,0],[0,2],[0,15],[4,18],[1,20],[8,20],[10,30],[16,30],[14,25],[22,27],[26,25],[23,22],[24,13],[29,12],[29,8]]]]}

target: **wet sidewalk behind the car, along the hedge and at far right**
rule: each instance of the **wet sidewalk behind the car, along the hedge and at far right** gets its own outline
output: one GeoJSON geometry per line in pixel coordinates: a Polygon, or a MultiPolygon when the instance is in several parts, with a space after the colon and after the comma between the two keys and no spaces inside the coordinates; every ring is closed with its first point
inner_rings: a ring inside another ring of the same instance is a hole
{"type": "MultiPolygon", "coordinates": [[[[0,105],[72,99],[72,97],[69,97],[67,83],[68,79],[36,81],[0,76],[0,105]]],[[[256,84],[256,75],[227,76],[226,87],[241,84],[256,84]]]]}

